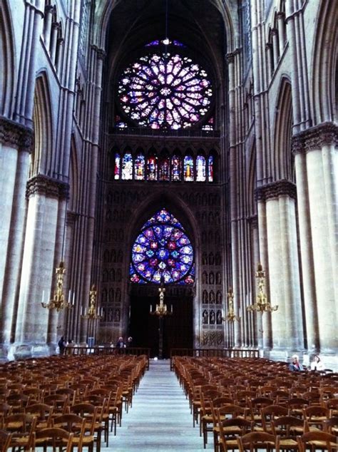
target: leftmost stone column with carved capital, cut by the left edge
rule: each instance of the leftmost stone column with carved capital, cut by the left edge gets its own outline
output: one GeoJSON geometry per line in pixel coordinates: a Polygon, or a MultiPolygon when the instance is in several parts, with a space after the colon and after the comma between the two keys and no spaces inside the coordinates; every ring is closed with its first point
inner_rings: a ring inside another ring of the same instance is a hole
{"type": "MultiPolygon", "coordinates": [[[[9,344],[14,322],[15,295],[21,264],[26,202],[24,193],[29,168],[32,130],[11,120],[0,118],[2,214],[0,223],[1,257],[1,339],[9,344]],[[12,178],[11,176],[14,176],[12,178]],[[9,195],[11,193],[11,195],[9,195]]],[[[6,351],[4,351],[6,357],[6,351]]]]}

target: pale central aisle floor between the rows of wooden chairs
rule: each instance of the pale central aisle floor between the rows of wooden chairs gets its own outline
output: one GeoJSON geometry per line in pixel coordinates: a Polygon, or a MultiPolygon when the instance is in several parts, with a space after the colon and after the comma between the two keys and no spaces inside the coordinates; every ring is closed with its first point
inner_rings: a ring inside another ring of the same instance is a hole
{"type": "MultiPolygon", "coordinates": [[[[101,452],[107,451],[102,444],[101,452]]],[[[147,451],[205,451],[200,426],[193,428],[189,402],[170,361],[150,361],[150,369],[140,381],[133,396],[133,407],[123,411],[122,427],[117,436],[110,436],[113,452],[147,451]]],[[[207,449],[213,450],[212,436],[207,449]]]]}

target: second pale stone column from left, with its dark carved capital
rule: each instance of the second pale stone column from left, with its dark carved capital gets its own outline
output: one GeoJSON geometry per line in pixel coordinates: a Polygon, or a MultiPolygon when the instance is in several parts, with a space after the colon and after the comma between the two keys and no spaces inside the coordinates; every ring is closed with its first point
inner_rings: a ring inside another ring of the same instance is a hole
{"type": "Polygon", "coordinates": [[[41,307],[41,300],[43,292],[45,302],[53,295],[58,199],[67,191],[68,185],[43,175],[27,184],[29,207],[14,346],[17,357],[49,354],[49,312],[41,307]]]}

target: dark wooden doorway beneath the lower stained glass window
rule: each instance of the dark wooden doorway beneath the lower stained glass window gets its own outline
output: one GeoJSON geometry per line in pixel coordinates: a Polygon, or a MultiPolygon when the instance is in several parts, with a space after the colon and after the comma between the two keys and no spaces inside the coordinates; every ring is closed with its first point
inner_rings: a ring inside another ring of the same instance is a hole
{"type": "MultiPolygon", "coordinates": [[[[136,297],[130,299],[130,336],[133,346],[150,347],[150,356],[158,356],[159,319],[150,315],[150,304],[155,310],[158,297],[136,297]]],[[[193,297],[165,299],[173,315],[163,320],[163,358],[170,357],[171,348],[192,348],[193,346],[193,297]]]]}

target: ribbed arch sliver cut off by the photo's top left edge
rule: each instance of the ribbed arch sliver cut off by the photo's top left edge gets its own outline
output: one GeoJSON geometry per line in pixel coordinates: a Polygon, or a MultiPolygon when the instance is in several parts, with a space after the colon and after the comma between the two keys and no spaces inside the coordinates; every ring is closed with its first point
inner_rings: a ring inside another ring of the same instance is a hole
{"type": "Polygon", "coordinates": [[[7,118],[11,118],[15,99],[16,66],[13,36],[9,7],[7,0],[3,0],[0,2],[0,115],[7,118]]]}

